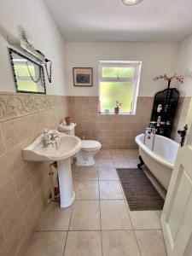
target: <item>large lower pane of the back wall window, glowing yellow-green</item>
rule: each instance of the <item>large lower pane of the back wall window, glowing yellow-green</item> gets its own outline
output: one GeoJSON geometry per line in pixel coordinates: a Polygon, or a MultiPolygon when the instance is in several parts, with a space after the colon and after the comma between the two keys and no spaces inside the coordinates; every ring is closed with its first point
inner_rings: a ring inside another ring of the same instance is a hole
{"type": "Polygon", "coordinates": [[[120,112],[130,112],[134,84],[132,82],[102,82],[100,83],[100,102],[102,112],[109,109],[114,112],[115,103],[122,103],[120,112]]]}

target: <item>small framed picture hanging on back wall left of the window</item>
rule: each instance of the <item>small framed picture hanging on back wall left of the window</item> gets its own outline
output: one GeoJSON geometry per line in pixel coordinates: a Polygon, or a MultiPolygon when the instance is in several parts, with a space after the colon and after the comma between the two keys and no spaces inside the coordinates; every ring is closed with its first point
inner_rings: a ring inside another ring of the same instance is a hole
{"type": "Polygon", "coordinates": [[[92,67],[73,67],[74,86],[93,86],[92,67]]]}

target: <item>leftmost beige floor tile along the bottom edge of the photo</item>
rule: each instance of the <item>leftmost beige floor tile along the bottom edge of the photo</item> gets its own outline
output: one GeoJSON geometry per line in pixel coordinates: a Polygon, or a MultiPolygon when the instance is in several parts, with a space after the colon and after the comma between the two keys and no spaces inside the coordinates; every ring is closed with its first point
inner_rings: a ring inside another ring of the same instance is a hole
{"type": "Polygon", "coordinates": [[[25,256],[63,256],[67,232],[35,232],[25,256]]]}

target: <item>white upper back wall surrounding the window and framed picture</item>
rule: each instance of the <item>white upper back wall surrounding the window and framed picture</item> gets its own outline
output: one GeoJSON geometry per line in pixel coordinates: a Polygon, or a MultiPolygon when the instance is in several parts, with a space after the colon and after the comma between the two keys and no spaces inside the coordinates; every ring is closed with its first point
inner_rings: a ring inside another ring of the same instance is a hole
{"type": "Polygon", "coordinates": [[[178,44],[174,42],[66,42],[67,94],[98,96],[98,61],[142,61],[139,96],[166,89],[157,75],[176,73],[178,44]],[[73,87],[73,67],[93,67],[93,87],[73,87]]]}

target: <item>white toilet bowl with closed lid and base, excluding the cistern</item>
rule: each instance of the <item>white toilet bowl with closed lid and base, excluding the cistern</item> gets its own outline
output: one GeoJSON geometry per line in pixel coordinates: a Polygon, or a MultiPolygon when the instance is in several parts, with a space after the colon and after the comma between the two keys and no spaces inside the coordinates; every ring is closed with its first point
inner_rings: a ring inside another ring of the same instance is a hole
{"type": "Polygon", "coordinates": [[[97,141],[83,140],[81,150],[76,154],[76,166],[94,166],[96,161],[94,155],[102,148],[102,144],[97,141]]]}

